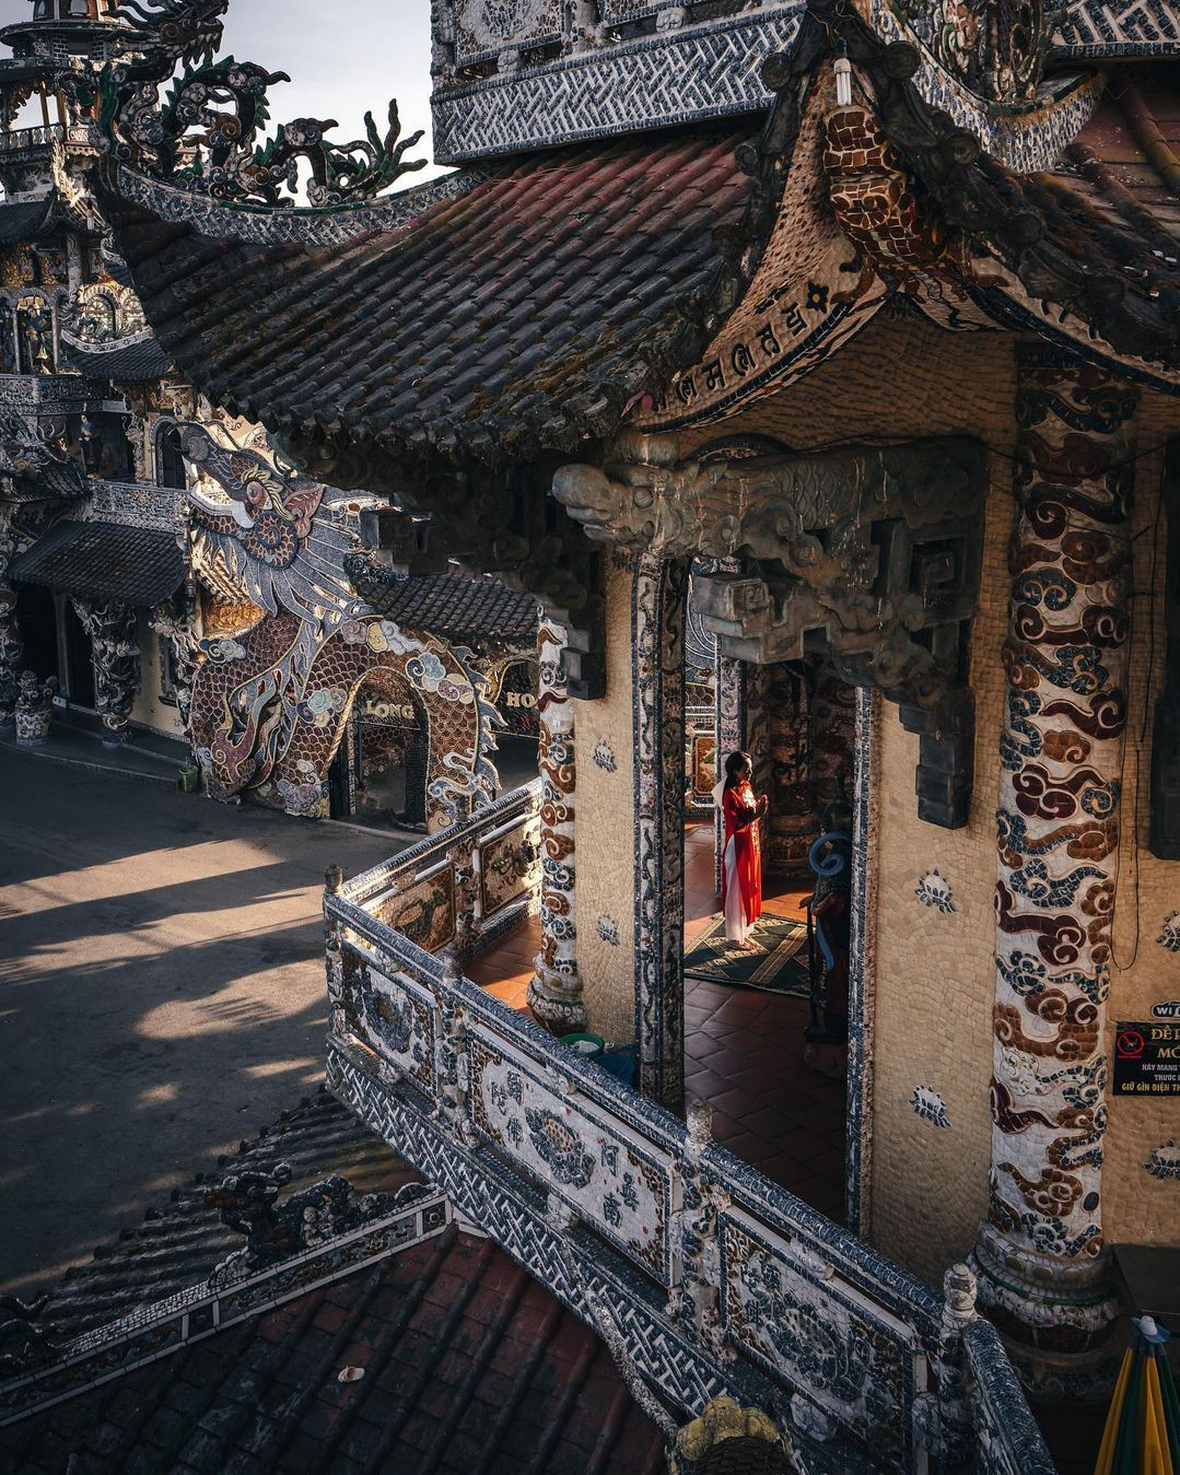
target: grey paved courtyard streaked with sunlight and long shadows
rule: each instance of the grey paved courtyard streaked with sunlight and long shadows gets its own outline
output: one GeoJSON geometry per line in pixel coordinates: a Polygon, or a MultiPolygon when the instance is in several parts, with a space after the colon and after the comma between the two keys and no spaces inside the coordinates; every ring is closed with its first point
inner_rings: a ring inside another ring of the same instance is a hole
{"type": "Polygon", "coordinates": [[[0,1291],[323,1075],[323,872],[403,841],[0,749],[0,1291]]]}

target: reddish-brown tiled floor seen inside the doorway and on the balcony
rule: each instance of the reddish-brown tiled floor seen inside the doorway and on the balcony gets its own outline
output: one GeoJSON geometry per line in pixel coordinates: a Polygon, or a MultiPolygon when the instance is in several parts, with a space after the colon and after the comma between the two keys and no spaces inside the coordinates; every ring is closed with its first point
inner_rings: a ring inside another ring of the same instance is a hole
{"type": "MultiPolygon", "coordinates": [[[[766,897],[779,916],[802,919],[807,891],[766,897]]],[[[684,835],[684,945],[718,910],[712,826],[684,835]]],[[[513,1009],[527,1007],[540,920],[531,919],[468,968],[468,976],[513,1009]]],[[[807,1003],[757,988],[687,979],[687,1089],[714,1108],[714,1137],[771,1181],[829,1218],[844,1217],[844,1084],[802,1063],[807,1003]]]]}

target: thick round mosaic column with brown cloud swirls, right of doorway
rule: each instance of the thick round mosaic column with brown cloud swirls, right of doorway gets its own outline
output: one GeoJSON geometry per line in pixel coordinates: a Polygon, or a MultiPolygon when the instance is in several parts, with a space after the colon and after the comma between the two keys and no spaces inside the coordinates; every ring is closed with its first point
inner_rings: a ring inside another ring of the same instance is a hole
{"type": "Polygon", "coordinates": [[[1034,1381],[1117,1314],[1102,1242],[1103,1028],[1127,714],[1136,391],[1021,351],[1003,659],[991,1195],[979,1294],[1034,1381]]]}

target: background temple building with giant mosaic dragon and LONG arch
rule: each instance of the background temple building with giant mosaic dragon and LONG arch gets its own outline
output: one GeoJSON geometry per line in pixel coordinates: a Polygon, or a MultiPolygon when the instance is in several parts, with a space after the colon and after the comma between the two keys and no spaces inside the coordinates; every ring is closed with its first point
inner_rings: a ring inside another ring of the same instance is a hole
{"type": "Polygon", "coordinates": [[[392,575],[364,552],[372,499],[301,478],[170,369],[93,198],[88,111],[55,81],[63,59],[97,77],[122,30],[80,3],[3,32],[0,729],[56,705],[108,743],[186,743],[218,798],[437,829],[496,795],[497,732],[535,739],[535,602],[392,575]],[[292,600],[339,628],[310,639],[292,600]],[[280,689],[263,752],[229,704],[280,689]]]}

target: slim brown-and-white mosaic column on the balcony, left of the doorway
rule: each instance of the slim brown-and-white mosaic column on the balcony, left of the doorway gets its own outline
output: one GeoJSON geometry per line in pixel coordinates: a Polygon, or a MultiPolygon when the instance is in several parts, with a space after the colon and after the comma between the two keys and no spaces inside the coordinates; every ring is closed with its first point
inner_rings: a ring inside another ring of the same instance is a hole
{"type": "Polygon", "coordinates": [[[574,798],[577,754],[574,704],[562,668],[565,630],[541,620],[537,631],[537,717],[541,771],[541,951],[532,962],[528,1006],[555,1034],[586,1030],[586,1003],[578,978],[575,919],[574,798]]]}

